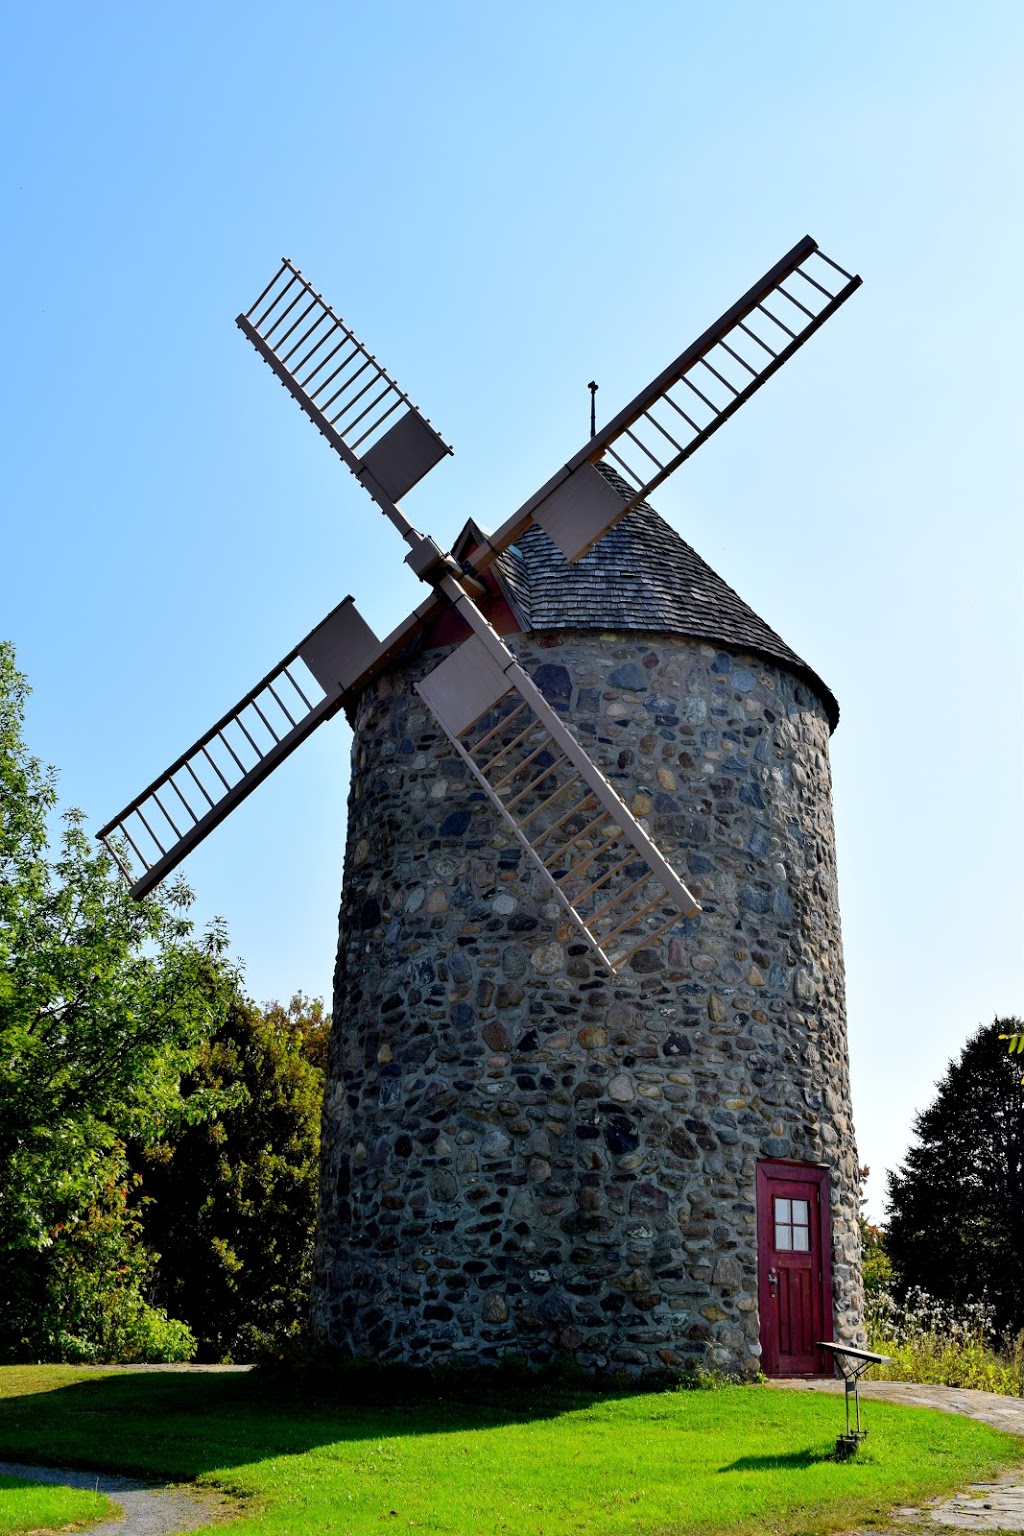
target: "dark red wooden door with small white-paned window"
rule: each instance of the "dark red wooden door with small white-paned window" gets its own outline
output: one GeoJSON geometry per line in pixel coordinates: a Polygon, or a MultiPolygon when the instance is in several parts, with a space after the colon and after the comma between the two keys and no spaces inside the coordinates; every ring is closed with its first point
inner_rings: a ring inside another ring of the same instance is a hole
{"type": "Polygon", "coordinates": [[[761,1370],[831,1375],[815,1346],[832,1338],[829,1175],[808,1163],[757,1164],[761,1370]]]}

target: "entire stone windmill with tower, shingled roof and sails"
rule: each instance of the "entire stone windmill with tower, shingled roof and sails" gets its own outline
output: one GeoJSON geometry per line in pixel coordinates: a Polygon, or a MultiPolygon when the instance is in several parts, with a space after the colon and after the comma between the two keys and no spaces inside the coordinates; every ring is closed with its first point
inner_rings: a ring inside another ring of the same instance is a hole
{"type": "Polygon", "coordinates": [[[434,596],[384,642],[345,599],[101,836],[144,894],[352,719],[313,1299],[341,1353],[811,1373],[860,1336],[838,708],[646,501],[858,281],[801,241],[451,554],[396,505],[447,447],[301,273],[239,316],[434,596]]]}

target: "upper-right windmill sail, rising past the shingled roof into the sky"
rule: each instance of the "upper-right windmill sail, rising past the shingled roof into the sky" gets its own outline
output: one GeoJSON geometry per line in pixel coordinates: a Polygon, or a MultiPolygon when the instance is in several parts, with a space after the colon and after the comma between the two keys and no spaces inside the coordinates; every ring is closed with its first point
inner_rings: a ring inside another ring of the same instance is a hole
{"type": "Polygon", "coordinates": [[[579,559],[734,416],[860,284],[804,237],[491,535],[471,567],[485,570],[530,521],[568,561],[579,559]],[[613,473],[603,475],[602,465],[613,473]]]}

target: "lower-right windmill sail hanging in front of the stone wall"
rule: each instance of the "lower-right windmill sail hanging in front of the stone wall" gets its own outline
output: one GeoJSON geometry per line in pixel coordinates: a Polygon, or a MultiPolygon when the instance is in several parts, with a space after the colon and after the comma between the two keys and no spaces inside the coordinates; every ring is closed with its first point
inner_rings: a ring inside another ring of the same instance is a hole
{"type": "Polygon", "coordinates": [[[456,607],[474,633],[416,690],[551,895],[617,971],[700,905],[476,605],[459,596],[456,607]]]}

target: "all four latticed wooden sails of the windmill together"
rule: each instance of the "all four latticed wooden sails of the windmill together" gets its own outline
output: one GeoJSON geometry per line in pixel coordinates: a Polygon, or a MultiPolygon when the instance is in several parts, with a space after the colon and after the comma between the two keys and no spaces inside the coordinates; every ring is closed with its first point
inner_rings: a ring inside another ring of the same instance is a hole
{"type": "Polygon", "coordinates": [[[430,596],[382,641],[345,598],[100,831],[132,895],[152,891],[450,607],[470,637],[418,691],[597,958],[614,971],[680,915],[697,914],[677,871],[487,619],[484,579],[534,522],[567,561],[585,554],[735,415],[860,281],[804,237],[457,561],[399,507],[451,449],[284,260],[236,324],[398,528],[405,562],[430,596]]]}

